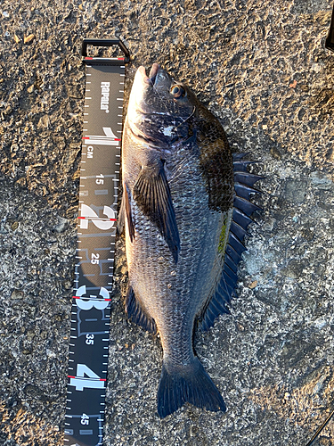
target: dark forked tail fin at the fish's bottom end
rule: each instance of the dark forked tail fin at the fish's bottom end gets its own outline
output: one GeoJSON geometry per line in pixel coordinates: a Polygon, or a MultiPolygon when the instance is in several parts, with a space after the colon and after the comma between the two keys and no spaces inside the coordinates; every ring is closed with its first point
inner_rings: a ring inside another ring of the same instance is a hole
{"type": "Polygon", "coordinates": [[[182,368],[168,367],[164,361],[158,390],[159,417],[167,417],[186,401],[214,412],[226,410],[222,395],[198,358],[182,368]]]}

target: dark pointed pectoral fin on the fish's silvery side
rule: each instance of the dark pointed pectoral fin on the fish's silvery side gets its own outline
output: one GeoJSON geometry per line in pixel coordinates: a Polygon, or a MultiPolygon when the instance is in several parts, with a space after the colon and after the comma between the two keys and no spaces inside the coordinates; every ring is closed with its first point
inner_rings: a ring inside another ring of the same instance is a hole
{"type": "Polygon", "coordinates": [[[177,263],[180,237],[162,161],[160,165],[143,166],[134,184],[134,200],[143,214],[159,228],[177,263]]]}

